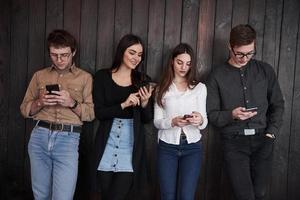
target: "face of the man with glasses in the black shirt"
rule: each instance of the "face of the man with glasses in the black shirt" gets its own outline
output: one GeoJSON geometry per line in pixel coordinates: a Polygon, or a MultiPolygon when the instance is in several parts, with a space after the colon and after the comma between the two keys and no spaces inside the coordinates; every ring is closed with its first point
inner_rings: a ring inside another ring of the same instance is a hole
{"type": "Polygon", "coordinates": [[[255,55],[255,44],[252,42],[248,45],[229,47],[230,63],[236,67],[245,66],[255,55]]]}

